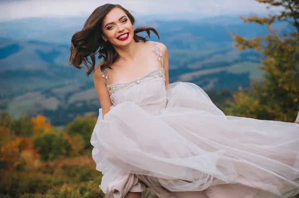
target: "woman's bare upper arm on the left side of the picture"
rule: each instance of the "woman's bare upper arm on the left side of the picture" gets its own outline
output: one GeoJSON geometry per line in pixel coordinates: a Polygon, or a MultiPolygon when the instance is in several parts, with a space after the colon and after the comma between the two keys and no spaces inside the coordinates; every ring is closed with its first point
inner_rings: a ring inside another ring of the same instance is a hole
{"type": "Polygon", "coordinates": [[[98,94],[100,104],[103,111],[103,119],[104,116],[110,111],[110,107],[113,105],[110,99],[110,94],[106,87],[105,79],[102,76],[102,71],[100,66],[97,66],[94,71],[94,84],[95,89],[98,94]]]}

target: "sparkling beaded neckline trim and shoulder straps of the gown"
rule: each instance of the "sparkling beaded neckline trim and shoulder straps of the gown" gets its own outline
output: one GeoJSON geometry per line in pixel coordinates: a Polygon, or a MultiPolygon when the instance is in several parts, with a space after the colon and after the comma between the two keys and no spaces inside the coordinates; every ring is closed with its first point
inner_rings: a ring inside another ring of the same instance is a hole
{"type": "Polygon", "coordinates": [[[165,74],[164,74],[165,71],[164,71],[163,66],[162,66],[162,60],[161,60],[162,54],[160,53],[160,49],[158,48],[156,42],[149,41],[149,43],[153,44],[152,52],[156,54],[157,61],[160,62],[161,67],[155,68],[155,69],[149,71],[146,75],[144,75],[142,77],[139,77],[135,80],[128,81],[128,82],[121,82],[121,83],[113,83],[113,84],[107,84],[108,68],[104,69],[102,76],[106,80],[107,90],[108,90],[110,95],[114,94],[118,90],[121,90],[121,89],[124,89],[124,88],[128,87],[129,85],[131,85],[133,83],[140,84],[143,79],[148,78],[148,77],[161,77],[165,81],[165,74]]]}

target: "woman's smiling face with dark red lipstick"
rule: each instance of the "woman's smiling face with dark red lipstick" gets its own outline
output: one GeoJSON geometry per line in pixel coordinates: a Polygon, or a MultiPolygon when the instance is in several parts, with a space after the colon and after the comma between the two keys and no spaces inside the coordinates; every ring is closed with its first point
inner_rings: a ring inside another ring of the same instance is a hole
{"type": "Polygon", "coordinates": [[[115,47],[129,45],[133,40],[133,25],[127,14],[119,7],[113,8],[106,15],[102,30],[103,36],[115,47]]]}

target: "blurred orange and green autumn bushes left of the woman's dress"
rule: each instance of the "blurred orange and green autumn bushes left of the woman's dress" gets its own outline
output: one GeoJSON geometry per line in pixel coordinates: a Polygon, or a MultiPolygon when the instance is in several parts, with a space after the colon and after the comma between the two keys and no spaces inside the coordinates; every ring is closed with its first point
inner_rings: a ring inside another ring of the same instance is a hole
{"type": "Polygon", "coordinates": [[[104,198],[102,174],[85,149],[95,120],[79,117],[68,125],[76,132],[64,132],[42,115],[13,119],[1,112],[0,197],[104,198]]]}

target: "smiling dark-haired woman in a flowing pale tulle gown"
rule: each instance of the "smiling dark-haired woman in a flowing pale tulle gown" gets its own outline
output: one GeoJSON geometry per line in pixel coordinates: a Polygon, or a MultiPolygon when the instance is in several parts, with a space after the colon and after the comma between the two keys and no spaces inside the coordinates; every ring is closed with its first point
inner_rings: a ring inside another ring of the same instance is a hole
{"type": "Polygon", "coordinates": [[[160,198],[297,195],[299,125],[225,116],[195,84],[169,84],[165,45],[134,23],[105,4],[72,37],[70,63],[94,71],[102,107],[91,143],[106,197],[141,198],[146,186],[160,198]]]}

